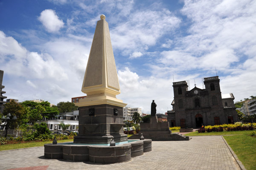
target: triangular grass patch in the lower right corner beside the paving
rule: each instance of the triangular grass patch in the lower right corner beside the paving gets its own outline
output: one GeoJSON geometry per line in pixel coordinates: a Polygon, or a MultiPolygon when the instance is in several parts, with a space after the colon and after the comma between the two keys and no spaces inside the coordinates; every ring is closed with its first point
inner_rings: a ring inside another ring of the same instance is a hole
{"type": "Polygon", "coordinates": [[[256,138],[249,135],[223,136],[247,170],[256,169],[256,138]]]}

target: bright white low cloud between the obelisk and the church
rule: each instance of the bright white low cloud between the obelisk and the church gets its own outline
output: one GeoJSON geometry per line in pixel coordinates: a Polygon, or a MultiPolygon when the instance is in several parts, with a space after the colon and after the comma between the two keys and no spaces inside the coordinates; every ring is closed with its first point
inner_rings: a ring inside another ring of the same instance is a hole
{"type": "Polygon", "coordinates": [[[129,107],[142,106],[143,113],[150,113],[152,100],[157,103],[157,113],[171,109],[172,81],[157,77],[139,77],[137,73],[125,67],[118,71],[121,94],[116,96],[128,103],[129,107]]]}

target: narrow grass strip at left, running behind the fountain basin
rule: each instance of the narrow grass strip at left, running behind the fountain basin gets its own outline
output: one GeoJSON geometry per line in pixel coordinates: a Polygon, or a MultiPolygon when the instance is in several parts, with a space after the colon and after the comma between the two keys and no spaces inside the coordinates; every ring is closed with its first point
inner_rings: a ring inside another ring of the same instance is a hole
{"type": "MultiPolygon", "coordinates": [[[[58,140],[58,143],[73,142],[73,140],[74,139],[58,140]]],[[[44,144],[47,144],[47,143],[52,143],[52,141],[28,142],[28,143],[18,143],[18,144],[5,144],[5,145],[0,145],[0,151],[1,150],[11,150],[11,149],[27,148],[27,147],[44,146],[44,144]]]]}

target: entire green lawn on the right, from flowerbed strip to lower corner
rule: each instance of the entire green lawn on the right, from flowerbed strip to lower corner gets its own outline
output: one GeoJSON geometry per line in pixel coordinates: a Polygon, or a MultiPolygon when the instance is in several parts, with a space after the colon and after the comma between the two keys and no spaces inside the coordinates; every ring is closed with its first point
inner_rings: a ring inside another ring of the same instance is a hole
{"type": "Polygon", "coordinates": [[[221,135],[230,145],[247,170],[256,170],[256,138],[250,136],[255,130],[187,133],[186,136],[221,135]]]}

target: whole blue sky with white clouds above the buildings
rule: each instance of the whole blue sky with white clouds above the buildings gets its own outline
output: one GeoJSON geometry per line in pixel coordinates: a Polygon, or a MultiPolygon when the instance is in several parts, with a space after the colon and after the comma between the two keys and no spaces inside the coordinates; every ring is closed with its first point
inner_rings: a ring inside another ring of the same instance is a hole
{"type": "Polygon", "coordinates": [[[8,99],[53,104],[81,85],[105,14],[129,107],[172,109],[175,82],[216,75],[235,101],[256,94],[255,0],[0,0],[0,70],[8,99]]]}

